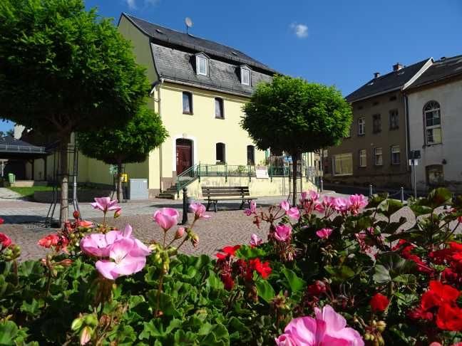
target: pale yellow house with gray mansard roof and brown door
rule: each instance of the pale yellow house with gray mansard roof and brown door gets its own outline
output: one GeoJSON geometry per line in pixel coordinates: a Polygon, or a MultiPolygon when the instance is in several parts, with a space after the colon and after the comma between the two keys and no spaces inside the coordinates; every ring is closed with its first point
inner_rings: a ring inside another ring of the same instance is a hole
{"type": "MultiPolygon", "coordinates": [[[[284,172],[282,179],[257,179],[255,165],[264,164],[269,152],[257,150],[240,127],[242,106],[258,83],[271,81],[272,68],[235,48],[128,14],[120,16],[118,30],[146,68],[152,83],[149,106],[170,135],[145,162],[125,165],[128,179],[146,179],[149,198],[175,198],[177,182],[188,179],[197,180],[189,187],[196,196],[200,184],[249,186],[253,195],[289,192],[284,172]]],[[[103,162],[81,156],[78,166],[78,182],[113,182],[103,162]]]]}

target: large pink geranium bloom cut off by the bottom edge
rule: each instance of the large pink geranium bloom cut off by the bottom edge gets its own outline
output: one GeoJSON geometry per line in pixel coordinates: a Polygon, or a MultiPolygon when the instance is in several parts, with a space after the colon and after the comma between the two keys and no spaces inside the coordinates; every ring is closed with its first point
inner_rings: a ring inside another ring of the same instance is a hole
{"type": "Polygon", "coordinates": [[[346,327],[347,321],[326,305],[322,310],[314,308],[315,318],[294,318],[285,327],[284,334],[279,335],[276,344],[285,345],[335,345],[335,346],[363,346],[364,341],[359,332],[346,327]]]}

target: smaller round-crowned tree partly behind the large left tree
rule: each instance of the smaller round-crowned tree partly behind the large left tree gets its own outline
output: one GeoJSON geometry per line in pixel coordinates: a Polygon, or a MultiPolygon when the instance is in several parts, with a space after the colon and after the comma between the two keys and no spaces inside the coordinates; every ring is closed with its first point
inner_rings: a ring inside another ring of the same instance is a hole
{"type": "Polygon", "coordinates": [[[79,132],[79,150],[88,157],[117,165],[117,199],[121,200],[122,164],[144,162],[151,150],[168,137],[160,116],[143,107],[123,127],[79,132]]]}

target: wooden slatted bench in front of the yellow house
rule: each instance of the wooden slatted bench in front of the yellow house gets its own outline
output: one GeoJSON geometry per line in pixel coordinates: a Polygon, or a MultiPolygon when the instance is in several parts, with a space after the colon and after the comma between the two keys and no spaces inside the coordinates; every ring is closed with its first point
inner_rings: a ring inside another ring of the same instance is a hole
{"type": "Polygon", "coordinates": [[[218,201],[241,201],[239,209],[242,209],[245,202],[250,206],[250,201],[256,199],[250,197],[249,187],[202,187],[202,198],[207,199],[207,211],[213,204],[215,213],[218,201]]]}

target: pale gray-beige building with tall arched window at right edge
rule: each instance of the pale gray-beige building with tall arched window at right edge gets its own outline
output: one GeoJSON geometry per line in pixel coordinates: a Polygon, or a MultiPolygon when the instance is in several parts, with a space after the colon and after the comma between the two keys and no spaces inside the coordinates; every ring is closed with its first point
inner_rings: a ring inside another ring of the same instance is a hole
{"type": "MultiPolygon", "coordinates": [[[[462,193],[462,56],[435,61],[407,90],[416,187],[462,193]]],[[[412,179],[414,183],[414,179],[412,179]]]]}

